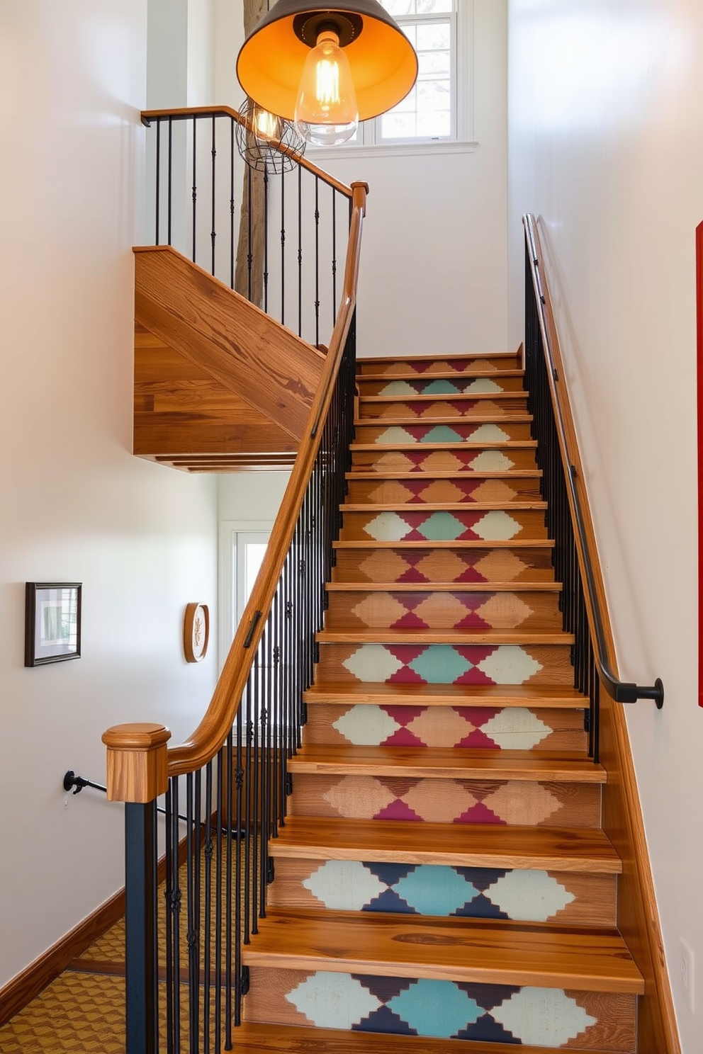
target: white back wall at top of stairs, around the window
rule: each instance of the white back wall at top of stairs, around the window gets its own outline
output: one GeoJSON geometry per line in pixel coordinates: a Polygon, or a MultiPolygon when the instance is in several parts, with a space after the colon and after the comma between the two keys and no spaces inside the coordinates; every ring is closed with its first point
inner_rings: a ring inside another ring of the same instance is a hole
{"type": "MultiPolygon", "coordinates": [[[[216,2],[217,101],[237,106],[243,97],[234,75],[240,3],[216,2]]],[[[362,355],[506,348],[506,3],[462,3],[473,8],[474,152],[308,154],[344,182],[369,183],[362,355]]]]}

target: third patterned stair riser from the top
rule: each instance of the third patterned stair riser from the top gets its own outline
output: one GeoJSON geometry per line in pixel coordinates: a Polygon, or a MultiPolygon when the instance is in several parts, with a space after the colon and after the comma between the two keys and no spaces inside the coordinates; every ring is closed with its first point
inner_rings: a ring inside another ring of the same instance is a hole
{"type": "Polygon", "coordinates": [[[472,398],[469,395],[436,396],[416,395],[406,402],[376,398],[359,401],[360,416],[365,421],[398,421],[402,418],[417,418],[418,421],[437,421],[451,417],[456,421],[484,421],[486,417],[501,417],[509,421],[511,417],[524,416],[527,413],[526,397],[515,397],[516,392],[505,392],[493,398],[472,398]]]}

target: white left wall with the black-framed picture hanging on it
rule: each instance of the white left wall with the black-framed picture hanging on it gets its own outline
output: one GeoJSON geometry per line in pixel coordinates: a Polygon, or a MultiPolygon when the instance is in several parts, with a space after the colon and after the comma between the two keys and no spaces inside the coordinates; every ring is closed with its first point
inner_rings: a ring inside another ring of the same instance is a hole
{"type": "Polygon", "coordinates": [[[122,809],[102,731],[178,741],[214,651],[182,657],[187,602],[216,604],[216,481],[133,457],[135,216],[145,0],[0,3],[0,985],[111,896],[122,809]],[[25,581],[83,583],[83,655],[25,669],[25,581]]]}

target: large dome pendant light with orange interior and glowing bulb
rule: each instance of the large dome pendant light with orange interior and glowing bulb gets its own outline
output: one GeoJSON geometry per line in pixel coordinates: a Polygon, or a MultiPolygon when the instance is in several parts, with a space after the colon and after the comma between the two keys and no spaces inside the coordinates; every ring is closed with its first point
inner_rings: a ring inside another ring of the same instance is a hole
{"type": "Polygon", "coordinates": [[[330,145],[392,110],[417,77],[417,56],[376,0],[277,0],[245,41],[237,77],[309,142],[330,145]]]}

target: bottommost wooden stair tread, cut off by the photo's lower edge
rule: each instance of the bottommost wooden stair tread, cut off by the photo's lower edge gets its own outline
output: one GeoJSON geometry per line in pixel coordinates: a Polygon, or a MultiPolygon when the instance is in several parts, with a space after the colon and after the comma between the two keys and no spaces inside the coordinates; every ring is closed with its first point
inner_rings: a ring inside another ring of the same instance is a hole
{"type": "MultiPolygon", "coordinates": [[[[245,1021],[234,1030],[237,1054],[515,1054],[512,1043],[435,1039],[382,1032],[343,1032],[245,1021]]],[[[522,1054],[554,1054],[553,1047],[526,1047],[522,1054]]],[[[608,1054],[591,1050],[588,1054],[608,1054]]]]}

